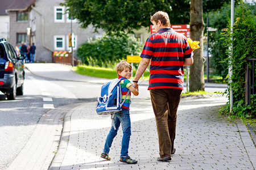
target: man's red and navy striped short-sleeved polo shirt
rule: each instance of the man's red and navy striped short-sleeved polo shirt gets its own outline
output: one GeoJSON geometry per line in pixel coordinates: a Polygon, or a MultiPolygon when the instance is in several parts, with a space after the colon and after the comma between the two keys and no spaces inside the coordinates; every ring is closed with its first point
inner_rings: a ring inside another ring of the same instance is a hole
{"type": "Polygon", "coordinates": [[[148,37],[141,53],[142,58],[151,59],[148,90],[154,88],[176,88],[183,90],[184,58],[193,52],[187,38],[172,28],[162,28],[148,37]]]}

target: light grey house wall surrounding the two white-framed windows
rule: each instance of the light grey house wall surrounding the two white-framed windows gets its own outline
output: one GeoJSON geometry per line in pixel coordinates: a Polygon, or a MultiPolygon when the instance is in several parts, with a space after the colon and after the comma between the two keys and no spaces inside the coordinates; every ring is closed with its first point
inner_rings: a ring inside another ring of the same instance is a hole
{"type": "MultiPolygon", "coordinates": [[[[31,12],[35,16],[35,45],[36,45],[36,61],[52,62],[52,52],[54,49],[55,35],[68,35],[71,33],[71,23],[66,22],[66,15],[64,15],[65,23],[55,23],[54,20],[54,6],[60,6],[63,2],[61,0],[38,0],[31,12]]],[[[86,29],[80,28],[80,24],[72,23],[73,33],[77,35],[77,45],[79,46],[85,42],[89,37],[102,35],[100,33],[93,33],[94,29],[89,26],[86,29]]],[[[66,44],[65,44],[66,45],[66,44]]],[[[67,50],[67,46],[65,47],[67,50]]],[[[76,56],[76,52],[75,52],[76,56]]]]}

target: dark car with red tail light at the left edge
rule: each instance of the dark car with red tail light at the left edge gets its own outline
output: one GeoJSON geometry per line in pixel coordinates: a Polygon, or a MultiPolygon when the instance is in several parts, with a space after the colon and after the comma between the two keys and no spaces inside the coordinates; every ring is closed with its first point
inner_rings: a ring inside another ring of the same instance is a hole
{"type": "Polygon", "coordinates": [[[24,55],[16,54],[9,42],[0,38],[0,91],[7,95],[7,100],[23,95],[24,58],[24,55]]]}

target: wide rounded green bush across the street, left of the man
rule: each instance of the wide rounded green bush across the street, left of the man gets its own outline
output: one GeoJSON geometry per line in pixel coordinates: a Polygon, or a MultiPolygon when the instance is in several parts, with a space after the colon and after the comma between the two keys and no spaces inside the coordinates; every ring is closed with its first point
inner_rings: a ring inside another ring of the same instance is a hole
{"type": "Polygon", "coordinates": [[[113,67],[126,59],[127,55],[139,55],[141,42],[125,34],[120,36],[105,35],[98,39],[89,39],[77,49],[77,55],[85,65],[113,67]]]}

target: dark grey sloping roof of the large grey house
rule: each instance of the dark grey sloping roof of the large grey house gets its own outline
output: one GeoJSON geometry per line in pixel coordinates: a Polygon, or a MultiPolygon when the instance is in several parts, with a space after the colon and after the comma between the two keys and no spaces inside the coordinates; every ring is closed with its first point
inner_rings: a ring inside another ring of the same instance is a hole
{"type": "MultiPolygon", "coordinates": [[[[3,0],[10,1],[10,0],[3,0]]],[[[35,3],[36,0],[13,0],[7,6],[7,10],[9,11],[18,11],[18,10],[27,10],[31,5],[35,3]]]]}

